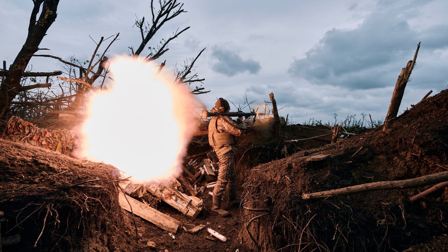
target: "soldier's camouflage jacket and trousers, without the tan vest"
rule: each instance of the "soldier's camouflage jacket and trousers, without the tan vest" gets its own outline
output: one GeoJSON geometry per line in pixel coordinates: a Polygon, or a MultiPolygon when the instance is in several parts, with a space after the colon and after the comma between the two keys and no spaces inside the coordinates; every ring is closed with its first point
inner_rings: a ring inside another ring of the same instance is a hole
{"type": "MultiPolygon", "coordinates": [[[[241,124],[237,124],[237,122],[233,121],[230,117],[226,117],[229,122],[233,125],[238,126],[240,128],[247,129],[247,123],[243,122],[241,124]]],[[[210,120],[210,124],[208,126],[209,132],[217,132],[223,133],[228,132],[234,136],[240,136],[243,133],[243,130],[237,129],[228,122],[225,122],[220,117],[212,117],[210,120]]],[[[221,196],[224,192],[224,189],[227,188],[227,191],[231,191],[232,189],[236,190],[235,185],[235,166],[233,163],[233,152],[237,150],[237,146],[234,143],[228,143],[223,145],[213,146],[213,150],[216,153],[216,156],[219,158],[219,174],[218,180],[216,181],[215,188],[213,189],[213,194],[216,196],[221,196]]]]}

